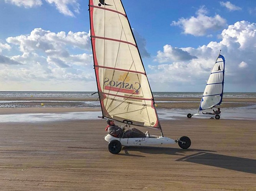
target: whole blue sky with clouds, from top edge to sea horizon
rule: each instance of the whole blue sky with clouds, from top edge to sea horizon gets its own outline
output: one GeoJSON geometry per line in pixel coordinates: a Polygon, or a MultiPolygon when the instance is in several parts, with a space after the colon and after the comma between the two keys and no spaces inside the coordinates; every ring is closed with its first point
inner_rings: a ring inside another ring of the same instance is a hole
{"type": "MultiPolygon", "coordinates": [[[[122,3],[153,92],[203,92],[220,50],[256,92],[255,0],[122,3]]],[[[0,91],[97,91],[89,31],[88,0],[0,0],[0,91]]]]}

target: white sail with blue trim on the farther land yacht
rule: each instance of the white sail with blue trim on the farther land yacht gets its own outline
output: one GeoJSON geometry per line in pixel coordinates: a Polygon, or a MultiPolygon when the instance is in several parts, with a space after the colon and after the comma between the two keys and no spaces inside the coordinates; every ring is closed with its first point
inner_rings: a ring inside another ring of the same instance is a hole
{"type": "Polygon", "coordinates": [[[225,58],[219,54],[203,92],[199,110],[220,105],[223,97],[225,58]]]}

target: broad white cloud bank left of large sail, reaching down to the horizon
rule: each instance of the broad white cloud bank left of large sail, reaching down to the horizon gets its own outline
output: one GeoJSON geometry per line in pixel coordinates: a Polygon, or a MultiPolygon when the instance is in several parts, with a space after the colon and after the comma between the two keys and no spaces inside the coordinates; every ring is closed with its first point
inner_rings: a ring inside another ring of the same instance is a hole
{"type": "Polygon", "coordinates": [[[91,52],[91,41],[86,32],[70,31],[66,34],[39,28],[29,35],[8,37],[7,42],[9,45],[0,44],[1,47],[18,46],[21,55],[0,55],[0,81],[4,82],[0,87],[3,90],[8,90],[7,84],[11,82],[13,89],[20,90],[18,84],[22,82],[23,88],[31,87],[28,90],[33,91],[52,90],[53,86],[56,86],[55,91],[86,91],[91,85],[77,88],[78,84],[95,82],[92,54],[74,53],[77,50],[91,52]],[[36,83],[41,85],[34,86],[36,83]]]}

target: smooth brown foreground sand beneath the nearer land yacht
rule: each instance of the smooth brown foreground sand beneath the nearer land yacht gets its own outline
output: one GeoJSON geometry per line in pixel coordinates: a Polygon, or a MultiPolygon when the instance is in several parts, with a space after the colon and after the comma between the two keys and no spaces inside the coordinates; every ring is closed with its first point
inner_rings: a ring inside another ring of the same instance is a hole
{"type": "Polygon", "coordinates": [[[103,138],[105,120],[1,123],[0,189],[256,190],[256,121],[161,124],[169,138],[189,136],[191,147],[123,147],[113,155],[103,138]]]}

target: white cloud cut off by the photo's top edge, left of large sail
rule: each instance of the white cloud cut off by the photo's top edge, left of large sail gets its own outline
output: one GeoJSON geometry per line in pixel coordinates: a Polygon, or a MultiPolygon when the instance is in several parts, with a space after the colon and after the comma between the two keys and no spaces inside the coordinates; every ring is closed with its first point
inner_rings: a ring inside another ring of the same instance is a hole
{"type": "MultiPolygon", "coordinates": [[[[44,0],[45,2],[55,5],[57,10],[66,16],[74,17],[74,13],[79,13],[80,4],[78,0],[44,0]]],[[[5,0],[6,3],[11,3],[16,6],[24,6],[25,8],[32,8],[35,6],[41,6],[43,4],[42,0],[5,0]]]]}

